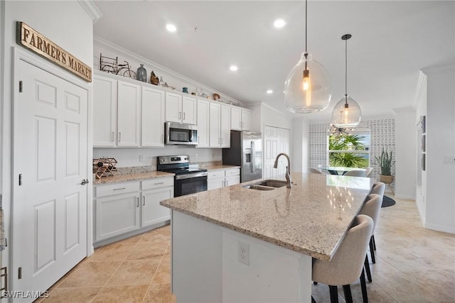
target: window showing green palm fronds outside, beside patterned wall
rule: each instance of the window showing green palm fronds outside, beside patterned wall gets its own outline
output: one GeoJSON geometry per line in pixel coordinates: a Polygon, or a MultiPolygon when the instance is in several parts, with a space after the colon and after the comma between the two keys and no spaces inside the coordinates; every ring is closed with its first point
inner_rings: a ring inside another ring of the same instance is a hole
{"type": "Polygon", "coordinates": [[[370,166],[370,131],[328,136],[328,165],[341,167],[370,166]]]}

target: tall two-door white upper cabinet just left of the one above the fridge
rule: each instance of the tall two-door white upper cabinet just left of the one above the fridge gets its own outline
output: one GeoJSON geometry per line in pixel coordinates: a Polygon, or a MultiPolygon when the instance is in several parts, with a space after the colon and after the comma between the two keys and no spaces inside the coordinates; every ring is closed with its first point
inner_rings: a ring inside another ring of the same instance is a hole
{"type": "Polygon", "coordinates": [[[210,102],[210,148],[230,147],[230,106],[210,102]]]}

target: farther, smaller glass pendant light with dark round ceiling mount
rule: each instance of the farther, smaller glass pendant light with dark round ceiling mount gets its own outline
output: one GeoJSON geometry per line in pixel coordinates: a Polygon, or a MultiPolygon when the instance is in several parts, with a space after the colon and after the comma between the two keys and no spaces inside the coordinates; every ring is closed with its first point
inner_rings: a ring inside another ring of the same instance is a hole
{"type": "Polygon", "coordinates": [[[345,48],[345,94],[335,105],[332,111],[332,124],[336,128],[350,128],[358,126],[362,119],[362,111],[357,102],[348,95],[348,39],[352,35],[346,34],[341,37],[346,41],[345,48]]]}

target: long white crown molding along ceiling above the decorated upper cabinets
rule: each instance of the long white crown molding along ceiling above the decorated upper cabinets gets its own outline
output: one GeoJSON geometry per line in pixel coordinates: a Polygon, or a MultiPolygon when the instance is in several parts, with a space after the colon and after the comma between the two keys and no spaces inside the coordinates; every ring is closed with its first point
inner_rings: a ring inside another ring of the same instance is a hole
{"type": "Polygon", "coordinates": [[[101,38],[100,36],[97,36],[97,35],[93,36],[93,44],[97,45],[97,46],[100,46],[101,48],[105,48],[106,50],[112,51],[113,53],[122,55],[123,57],[129,57],[129,58],[131,58],[134,61],[144,62],[144,65],[150,65],[150,66],[154,67],[156,70],[164,71],[164,72],[172,75],[173,77],[181,79],[184,82],[188,82],[188,84],[193,84],[195,87],[201,87],[205,91],[214,92],[216,94],[219,94],[220,97],[223,97],[223,99],[225,98],[225,99],[229,99],[231,101],[237,101],[242,107],[245,107],[245,103],[242,102],[242,101],[239,101],[239,100],[237,100],[237,99],[235,99],[233,97],[230,97],[227,94],[223,94],[222,92],[218,92],[218,90],[213,89],[212,87],[208,87],[205,84],[202,84],[202,83],[197,82],[197,81],[195,81],[195,80],[193,80],[191,78],[188,78],[188,77],[186,77],[184,75],[181,75],[178,72],[173,71],[171,69],[168,69],[168,67],[164,67],[163,65],[160,65],[159,63],[151,61],[151,60],[149,60],[146,57],[142,57],[140,55],[137,55],[136,53],[133,53],[131,50],[127,50],[126,48],[122,48],[121,46],[119,46],[119,45],[117,45],[115,43],[112,43],[112,42],[110,42],[110,41],[108,41],[108,40],[106,40],[104,38],[101,38]]]}

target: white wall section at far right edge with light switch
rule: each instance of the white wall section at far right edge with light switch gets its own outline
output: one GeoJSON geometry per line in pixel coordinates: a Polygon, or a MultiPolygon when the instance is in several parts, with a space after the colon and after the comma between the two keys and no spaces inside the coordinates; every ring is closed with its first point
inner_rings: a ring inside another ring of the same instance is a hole
{"type": "Polygon", "coordinates": [[[425,227],[455,233],[455,65],[427,68],[425,227]]]}

